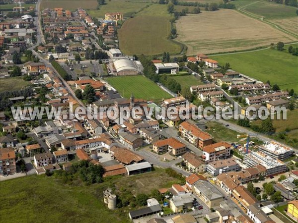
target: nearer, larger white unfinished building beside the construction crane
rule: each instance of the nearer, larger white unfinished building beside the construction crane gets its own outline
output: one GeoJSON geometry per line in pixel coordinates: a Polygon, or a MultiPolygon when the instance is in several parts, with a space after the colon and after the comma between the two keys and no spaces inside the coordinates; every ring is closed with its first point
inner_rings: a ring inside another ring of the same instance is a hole
{"type": "Polygon", "coordinates": [[[284,162],[269,157],[261,151],[252,152],[245,155],[244,163],[248,167],[262,165],[266,168],[266,176],[276,175],[287,171],[287,166],[284,162]]]}

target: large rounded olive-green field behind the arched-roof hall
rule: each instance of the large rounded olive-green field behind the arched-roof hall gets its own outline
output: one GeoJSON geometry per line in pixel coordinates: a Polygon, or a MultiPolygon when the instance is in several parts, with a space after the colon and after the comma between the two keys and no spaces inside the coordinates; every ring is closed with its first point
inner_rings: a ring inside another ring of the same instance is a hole
{"type": "Polygon", "coordinates": [[[166,5],[153,4],[126,20],[118,30],[119,47],[126,55],[177,54],[181,47],[168,40],[171,16],[166,5]]]}

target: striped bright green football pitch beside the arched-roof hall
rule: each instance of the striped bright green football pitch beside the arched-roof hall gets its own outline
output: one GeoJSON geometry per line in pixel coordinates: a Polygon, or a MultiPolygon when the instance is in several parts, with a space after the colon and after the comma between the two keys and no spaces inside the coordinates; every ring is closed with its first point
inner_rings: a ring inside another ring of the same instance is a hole
{"type": "Polygon", "coordinates": [[[145,76],[109,77],[107,81],[125,98],[130,98],[132,92],[135,98],[143,98],[145,100],[156,101],[172,98],[171,95],[145,76]]]}

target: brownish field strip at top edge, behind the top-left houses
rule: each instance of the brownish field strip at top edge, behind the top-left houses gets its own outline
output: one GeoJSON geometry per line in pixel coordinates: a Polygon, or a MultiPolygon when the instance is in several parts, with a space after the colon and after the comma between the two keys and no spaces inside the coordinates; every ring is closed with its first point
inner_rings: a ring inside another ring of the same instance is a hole
{"type": "Polygon", "coordinates": [[[57,8],[62,7],[68,10],[75,10],[77,8],[84,9],[96,9],[97,8],[97,0],[42,0],[40,4],[40,9],[45,8],[57,8]]]}

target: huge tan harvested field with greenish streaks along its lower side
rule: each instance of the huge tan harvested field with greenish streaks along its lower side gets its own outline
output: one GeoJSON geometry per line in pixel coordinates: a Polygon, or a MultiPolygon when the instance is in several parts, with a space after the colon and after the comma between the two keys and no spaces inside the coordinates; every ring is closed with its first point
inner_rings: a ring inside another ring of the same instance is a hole
{"type": "Polygon", "coordinates": [[[235,10],[203,11],[177,20],[177,40],[188,47],[187,55],[248,50],[297,38],[235,10]]]}

